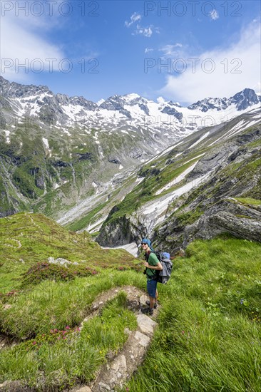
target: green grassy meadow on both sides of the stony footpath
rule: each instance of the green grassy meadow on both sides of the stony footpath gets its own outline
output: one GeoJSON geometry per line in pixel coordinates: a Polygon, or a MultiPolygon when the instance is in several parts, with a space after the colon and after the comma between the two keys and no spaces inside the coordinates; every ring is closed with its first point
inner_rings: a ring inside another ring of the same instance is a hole
{"type": "MultiPolygon", "coordinates": [[[[10,225],[15,231],[19,225],[16,240],[22,244],[10,247],[0,267],[9,289],[19,287],[21,272],[47,254],[81,261],[85,253],[86,261],[99,273],[70,281],[44,280],[1,297],[1,330],[26,339],[1,351],[0,382],[20,379],[46,391],[88,383],[106,356],[121,349],[124,328],[135,328],[135,321],[120,294],[81,333],[77,326],[101,292],[125,284],[145,289],[143,274],[119,270],[131,265],[126,252],[100,250],[91,239],[79,242],[81,236],[66,232],[42,215],[19,214],[1,223],[2,231],[7,225],[9,231],[10,225]],[[41,242],[35,225],[51,234],[52,240],[41,242]],[[34,229],[34,241],[28,245],[21,238],[24,228],[32,235],[34,229]],[[17,262],[19,252],[24,252],[24,264],[17,262]],[[116,259],[115,269],[106,269],[116,259]]],[[[14,239],[10,241],[14,245],[14,239]]],[[[170,282],[158,287],[162,304],[158,331],[144,365],[126,388],[137,392],[259,391],[260,251],[260,244],[222,237],[194,242],[185,257],[174,260],[170,282]]],[[[138,261],[133,266],[136,264],[138,261]]]]}

